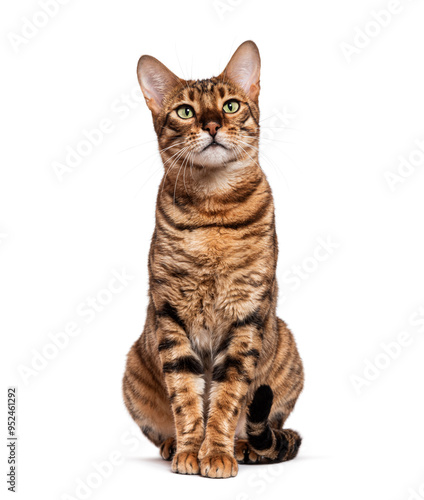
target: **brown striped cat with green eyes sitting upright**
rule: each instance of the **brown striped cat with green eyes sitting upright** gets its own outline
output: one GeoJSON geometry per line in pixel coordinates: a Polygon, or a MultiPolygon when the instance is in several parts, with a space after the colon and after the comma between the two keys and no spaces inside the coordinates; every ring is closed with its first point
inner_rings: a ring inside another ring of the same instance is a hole
{"type": "Polygon", "coordinates": [[[277,237],[259,166],[260,55],[182,80],[142,56],[138,80],[165,172],[149,254],[149,305],[123,379],[126,407],[180,474],[227,478],[238,463],[294,458],[283,424],[303,388],[276,316],[277,237]]]}

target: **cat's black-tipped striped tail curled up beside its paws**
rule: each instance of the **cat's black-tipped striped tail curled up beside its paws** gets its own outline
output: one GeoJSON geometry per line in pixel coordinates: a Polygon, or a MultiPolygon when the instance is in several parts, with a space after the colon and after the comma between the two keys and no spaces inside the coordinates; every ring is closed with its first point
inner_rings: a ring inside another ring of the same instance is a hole
{"type": "Polygon", "coordinates": [[[258,455],[273,462],[286,462],[297,455],[302,438],[291,429],[270,426],[268,417],[273,396],[269,385],[256,389],[247,412],[247,437],[249,445],[258,455]]]}

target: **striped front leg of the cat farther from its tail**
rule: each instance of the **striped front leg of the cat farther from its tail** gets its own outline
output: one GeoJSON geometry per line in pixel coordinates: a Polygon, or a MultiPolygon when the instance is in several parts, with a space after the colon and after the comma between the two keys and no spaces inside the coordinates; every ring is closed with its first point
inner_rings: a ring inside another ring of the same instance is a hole
{"type": "Polygon", "coordinates": [[[172,471],[198,474],[198,451],[204,436],[202,362],[172,308],[164,308],[157,319],[159,355],[176,430],[172,471]]]}

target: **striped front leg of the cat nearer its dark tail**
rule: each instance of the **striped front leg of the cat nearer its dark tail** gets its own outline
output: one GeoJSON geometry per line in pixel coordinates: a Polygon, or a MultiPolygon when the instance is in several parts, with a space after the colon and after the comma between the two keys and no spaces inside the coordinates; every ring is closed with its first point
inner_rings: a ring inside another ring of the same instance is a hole
{"type": "Polygon", "coordinates": [[[237,474],[235,431],[261,348],[257,327],[249,322],[237,322],[230,335],[229,346],[214,362],[205,439],[199,451],[200,473],[207,477],[237,474]]]}

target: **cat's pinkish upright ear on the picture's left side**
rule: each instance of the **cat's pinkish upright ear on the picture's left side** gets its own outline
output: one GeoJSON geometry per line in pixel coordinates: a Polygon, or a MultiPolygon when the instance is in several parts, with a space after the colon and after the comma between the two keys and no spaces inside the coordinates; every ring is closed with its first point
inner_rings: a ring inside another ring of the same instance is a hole
{"type": "Polygon", "coordinates": [[[147,106],[154,115],[162,109],[164,97],[183,80],[152,56],[141,56],[137,77],[147,106]]]}

